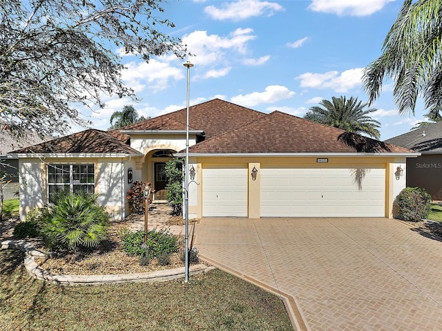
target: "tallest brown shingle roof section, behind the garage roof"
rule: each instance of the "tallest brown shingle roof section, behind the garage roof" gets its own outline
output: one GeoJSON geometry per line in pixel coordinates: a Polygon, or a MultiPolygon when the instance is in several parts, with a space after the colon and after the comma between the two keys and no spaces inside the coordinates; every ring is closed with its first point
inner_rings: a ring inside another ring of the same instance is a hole
{"type": "MultiPolygon", "coordinates": [[[[265,114],[259,111],[214,99],[189,107],[189,126],[192,130],[204,131],[208,139],[262,116],[265,114]]],[[[186,108],[124,126],[120,130],[186,130],[186,108]]]]}

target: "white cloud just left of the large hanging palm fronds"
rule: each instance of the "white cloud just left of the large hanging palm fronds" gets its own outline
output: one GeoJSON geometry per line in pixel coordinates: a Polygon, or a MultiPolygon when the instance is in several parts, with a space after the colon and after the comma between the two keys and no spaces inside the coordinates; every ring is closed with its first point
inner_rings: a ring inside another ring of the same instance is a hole
{"type": "Polygon", "coordinates": [[[355,68],[345,70],[340,75],[338,71],[303,73],[296,79],[300,79],[301,87],[331,88],[335,92],[345,93],[361,84],[362,74],[363,68],[355,68]]]}

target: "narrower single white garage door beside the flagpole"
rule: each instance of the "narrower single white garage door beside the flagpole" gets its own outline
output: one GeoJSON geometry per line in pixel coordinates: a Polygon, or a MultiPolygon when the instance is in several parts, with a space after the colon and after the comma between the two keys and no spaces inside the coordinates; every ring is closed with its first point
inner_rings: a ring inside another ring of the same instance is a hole
{"type": "Polygon", "coordinates": [[[247,167],[202,169],[202,216],[247,217],[247,167]]]}

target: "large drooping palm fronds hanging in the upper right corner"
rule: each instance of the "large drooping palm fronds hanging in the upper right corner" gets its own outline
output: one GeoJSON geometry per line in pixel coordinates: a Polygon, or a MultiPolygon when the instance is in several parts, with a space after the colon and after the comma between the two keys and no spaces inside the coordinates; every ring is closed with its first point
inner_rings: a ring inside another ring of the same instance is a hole
{"type": "Polygon", "coordinates": [[[442,6],[440,0],[405,0],[383,42],[383,54],[365,68],[363,83],[371,104],[392,78],[399,113],[412,113],[423,96],[429,115],[442,106],[442,6]]]}

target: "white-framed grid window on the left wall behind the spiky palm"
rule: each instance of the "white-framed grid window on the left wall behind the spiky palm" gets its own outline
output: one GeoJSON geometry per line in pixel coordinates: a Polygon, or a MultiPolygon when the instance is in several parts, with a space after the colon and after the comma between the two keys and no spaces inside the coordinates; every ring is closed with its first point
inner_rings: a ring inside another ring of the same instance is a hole
{"type": "Polygon", "coordinates": [[[93,164],[49,164],[49,200],[57,191],[95,192],[95,173],[93,164]]]}

